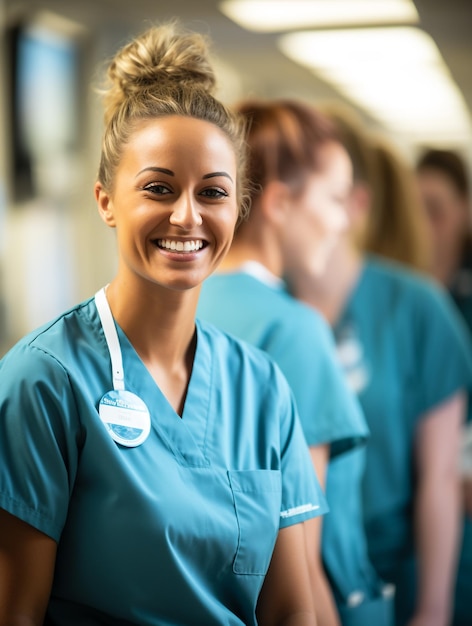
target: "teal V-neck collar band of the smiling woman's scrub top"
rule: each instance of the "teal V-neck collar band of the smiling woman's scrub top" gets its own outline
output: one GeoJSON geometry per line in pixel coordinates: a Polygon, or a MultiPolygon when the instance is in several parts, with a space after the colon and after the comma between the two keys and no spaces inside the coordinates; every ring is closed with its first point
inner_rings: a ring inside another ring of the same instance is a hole
{"type": "Polygon", "coordinates": [[[195,356],[182,417],[171,406],[123,330],[118,324],[116,326],[123,358],[125,388],[136,393],[148,406],[151,429],[166,439],[185,464],[208,466],[206,442],[210,417],[212,355],[199,322],[196,322],[195,356]]]}

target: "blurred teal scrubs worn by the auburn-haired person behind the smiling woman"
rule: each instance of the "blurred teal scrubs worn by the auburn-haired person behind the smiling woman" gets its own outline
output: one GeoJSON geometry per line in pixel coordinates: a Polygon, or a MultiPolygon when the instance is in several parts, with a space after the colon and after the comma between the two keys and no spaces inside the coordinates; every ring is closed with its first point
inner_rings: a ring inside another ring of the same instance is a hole
{"type": "Polygon", "coordinates": [[[267,352],[292,388],[308,445],[330,445],[324,567],[345,626],[389,626],[392,603],[369,563],[359,511],[362,453],[350,454],[364,448],[368,429],[336,362],[331,330],[253,262],[206,280],[197,315],[267,352]]]}

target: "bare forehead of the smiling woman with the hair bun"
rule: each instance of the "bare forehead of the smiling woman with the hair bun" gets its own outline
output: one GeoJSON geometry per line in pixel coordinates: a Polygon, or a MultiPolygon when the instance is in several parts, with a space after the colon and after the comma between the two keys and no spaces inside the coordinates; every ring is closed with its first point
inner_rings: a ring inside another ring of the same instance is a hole
{"type": "Polygon", "coordinates": [[[222,130],[210,122],[178,115],[140,121],[124,145],[124,165],[141,168],[151,162],[171,169],[179,165],[236,172],[235,149],[222,130]]]}

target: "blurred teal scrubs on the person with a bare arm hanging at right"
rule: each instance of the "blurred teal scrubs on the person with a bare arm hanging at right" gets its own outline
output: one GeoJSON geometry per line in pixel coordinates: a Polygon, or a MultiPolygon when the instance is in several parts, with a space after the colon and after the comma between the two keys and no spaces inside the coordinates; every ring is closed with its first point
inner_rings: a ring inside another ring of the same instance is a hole
{"type": "Polygon", "coordinates": [[[472,387],[469,338],[431,281],[369,258],[335,327],[339,358],[371,438],[363,481],[369,554],[396,585],[397,623],[414,609],[414,439],[420,419],[472,387]]]}

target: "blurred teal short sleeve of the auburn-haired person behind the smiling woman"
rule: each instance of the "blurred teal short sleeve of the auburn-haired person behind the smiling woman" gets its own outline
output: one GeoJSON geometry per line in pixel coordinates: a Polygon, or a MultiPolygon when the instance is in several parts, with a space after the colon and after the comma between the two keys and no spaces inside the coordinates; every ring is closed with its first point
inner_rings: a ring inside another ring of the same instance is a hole
{"type": "Polygon", "coordinates": [[[338,364],[330,328],[308,308],[297,313],[268,351],[293,391],[308,445],[329,444],[333,458],[364,443],[368,428],[338,364]]]}

